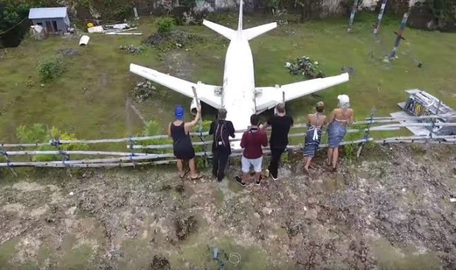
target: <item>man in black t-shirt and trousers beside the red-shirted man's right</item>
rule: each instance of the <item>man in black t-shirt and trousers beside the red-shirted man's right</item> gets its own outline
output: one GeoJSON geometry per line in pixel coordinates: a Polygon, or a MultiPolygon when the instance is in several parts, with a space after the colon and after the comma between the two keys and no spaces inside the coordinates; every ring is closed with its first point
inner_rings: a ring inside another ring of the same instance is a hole
{"type": "Polygon", "coordinates": [[[263,125],[263,130],[271,126],[271,138],[269,145],[271,146],[271,163],[269,164],[269,173],[273,180],[278,177],[278,162],[281,160],[281,155],[287,148],[289,128],[293,126],[293,118],[285,114],[285,104],[279,103],[276,106],[276,115],[271,117],[266,124],[263,125]]]}

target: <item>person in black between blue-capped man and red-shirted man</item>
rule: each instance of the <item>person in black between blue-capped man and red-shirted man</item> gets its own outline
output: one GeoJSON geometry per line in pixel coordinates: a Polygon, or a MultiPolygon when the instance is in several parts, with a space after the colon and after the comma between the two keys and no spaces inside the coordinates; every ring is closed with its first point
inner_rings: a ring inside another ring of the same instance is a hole
{"type": "Polygon", "coordinates": [[[218,182],[221,182],[225,177],[225,167],[231,154],[229,136],[234,138],[233,123],[225,120],[226,118],[227,110],[220,108],[217,119],[211,123],[211,128],[209,129],[209,135],[213,135],[212,175],[217,177],[218,182]]]}

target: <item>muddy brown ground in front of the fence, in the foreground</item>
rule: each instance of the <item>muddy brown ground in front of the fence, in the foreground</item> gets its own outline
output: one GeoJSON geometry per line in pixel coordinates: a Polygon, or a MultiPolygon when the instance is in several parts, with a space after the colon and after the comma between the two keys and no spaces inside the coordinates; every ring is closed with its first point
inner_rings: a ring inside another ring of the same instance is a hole
{"type": "Polygon", "coordinates": [[[391,147],[245,189],[163,167],[0,171],[0,269],[456,269],[456,149],[391,147]]]}

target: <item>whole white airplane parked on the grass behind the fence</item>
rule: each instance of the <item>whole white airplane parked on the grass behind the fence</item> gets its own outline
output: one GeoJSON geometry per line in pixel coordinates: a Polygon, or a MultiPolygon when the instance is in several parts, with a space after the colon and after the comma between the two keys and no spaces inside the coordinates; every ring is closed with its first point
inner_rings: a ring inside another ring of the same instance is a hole
{"type": "MultiPolygon", "coordinates": [[[[151,68],[130,64],[131,73],[155,81],[192,98],[190,108],[193,115],[196,114],[197,103],[192,87],[196,88],[200,101],[216,109],[227,109],[227,120],[233,122],[234,128],[239,131],[250,126],[250,115],[254,113],[263,113],[265,110],[275,108],[278,103],[288,102],[336,84],[342,84],[349,79],[348,73],[343,73],[283,86],[255,87],[254,61],[249,40],[276,28],[277,23],[267,23],[263,26],[243,29],[243,0],[240,0],[237,30],[207,20],[204,20],[203,24],[230,40],[225,57],[222,86],[202,84],[200,81],[195,84],[151,68]]],[[[242,137],[242,133],[236,133],[236,139],[231,142],[231,148],[240,148],[240,137],[242,137]]]]}

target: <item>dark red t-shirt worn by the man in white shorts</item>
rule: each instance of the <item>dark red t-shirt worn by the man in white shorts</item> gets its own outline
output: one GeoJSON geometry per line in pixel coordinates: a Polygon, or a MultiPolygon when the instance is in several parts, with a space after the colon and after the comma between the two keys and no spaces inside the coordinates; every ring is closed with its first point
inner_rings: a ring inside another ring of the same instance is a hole
{"type": "Polygon", "coordinates": [[[249,129],[243,134],[240,140],[240,147],[244,148],[244,157],[249,160],[254,160],[263,156],[263,148],[267,146],[267,135],[264,131],[258,128],[249,129]]]}

